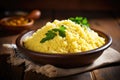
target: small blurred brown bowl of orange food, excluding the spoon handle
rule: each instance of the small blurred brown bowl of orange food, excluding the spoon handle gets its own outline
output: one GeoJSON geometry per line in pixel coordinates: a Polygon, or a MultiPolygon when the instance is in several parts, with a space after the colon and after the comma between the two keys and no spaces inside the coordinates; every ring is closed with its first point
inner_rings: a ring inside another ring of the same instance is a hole
{"type": "Polygon", "coordinates": [[[34,24],[33,19],[25,17],[5,17],[0,20],[0,27],[3,30],[21,32],[30,29],[34,24]]]}

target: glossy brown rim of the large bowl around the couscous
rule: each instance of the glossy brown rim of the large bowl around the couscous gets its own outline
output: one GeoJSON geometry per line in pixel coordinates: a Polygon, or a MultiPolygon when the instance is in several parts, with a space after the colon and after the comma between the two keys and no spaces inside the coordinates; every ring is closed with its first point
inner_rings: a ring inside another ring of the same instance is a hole
{"type": "MultiPolygon", "coordinates": [[[[97,33],[100,33],[99,35],[103,35],[103,36],[105,36],[105,39],[107,38],[107,42],[103,45],[103,46],[101,46],[101,47],[99,47],[99,48],[96,48],[96,49],[92,49],[92,50],[89,50],[89,51],[84,51],[84,52],[75,52],[75,54],[74,53],[69,53],[69,54],[51,54],[51,53],[46,53],[46,52],[36,52],[36,51],[32,51],[32,50],[29,50],[29,49],[27,49],[27,48],[25,48],[25,47],[23,47],[22,45],[21,45],[21,43],[20,43],[20,40],[21,40],[21,38],[23,37],[23,36],[25,36],[26,34],[29,34],[29,33],[34,33],[36,30],[29,30],[29,31],[27,31],[27,32],[23,32],[22,34],[20,34],[18,37],[17,37],[17,39],[16,39],[16,45],[17,45],[17,47],[18,47],[18,49],[22,49],[22,50],[26,50],[27,52],[29,52],[29,54],[33,54],[34,53],[34,55],[36,55],[36,56],[40,56],[41,54],[42,54],[42,56],[52,56],[52,57],[57,57],[58,55],[59,56],[78,56],[78,55],[90,55],[90,54],[92,54],[92,53],[95,53],[95,52],[98,52],[98,51],[104,51],[105,49],[107,49],[108,47],[110,47],[111,46],[111,44],[112,44],[112,37],[110,36],[110,35],[108,35],[108,34],[106,34],[106,33],[104,33],[104,32],[102,32],[102,31],[100,31],[100,30],[96,30],[96,29],[93,29],[92,28],[92,30],[94,30],[95,32],[97,32],[97,33]]],[[[22,43],[23,44],[23,43],[22,43]]]]}

